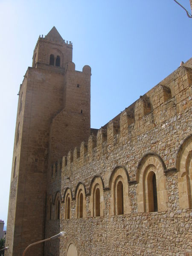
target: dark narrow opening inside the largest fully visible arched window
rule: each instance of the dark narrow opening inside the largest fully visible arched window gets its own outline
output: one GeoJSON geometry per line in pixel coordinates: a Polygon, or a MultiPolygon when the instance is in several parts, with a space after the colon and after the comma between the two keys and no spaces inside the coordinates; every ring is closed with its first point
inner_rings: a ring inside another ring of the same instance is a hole
{"type": "Polygon", "coordinates": [[[148,211],[158,212],[157,206],[157,184],[154,172],[148,174],[148,211]]]}

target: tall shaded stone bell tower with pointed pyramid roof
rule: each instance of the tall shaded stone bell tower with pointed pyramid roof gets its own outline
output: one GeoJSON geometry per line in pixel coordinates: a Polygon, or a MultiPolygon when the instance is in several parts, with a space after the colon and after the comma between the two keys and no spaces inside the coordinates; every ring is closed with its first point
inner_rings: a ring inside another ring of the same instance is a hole
{"type": "MultiPolygon", "coordinates": [[[[90,135],[91,70],[76,71],[72,51],[53,27],[38,38],[20,85],[6,255],[21,256],[27,245],[44,239],[49,167],[90,135]]],[[[43,245],[28,255],[44,255],[43,245]]]]}

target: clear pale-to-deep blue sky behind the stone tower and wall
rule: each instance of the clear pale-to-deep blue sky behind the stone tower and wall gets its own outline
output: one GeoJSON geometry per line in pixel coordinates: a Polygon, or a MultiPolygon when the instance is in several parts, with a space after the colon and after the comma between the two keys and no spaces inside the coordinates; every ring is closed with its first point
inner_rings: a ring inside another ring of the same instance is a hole
{"type": "MultiPolygon", "coordinates": [[[[190,10],[189,0],[179,0],[190,10]]],[[[38,36],[73,42],[92,68],[91,127],[100,128],[192,57],[192,19],[173,0],[0,0],[0,219],[6,223],[18,90],[38,36]]]]}

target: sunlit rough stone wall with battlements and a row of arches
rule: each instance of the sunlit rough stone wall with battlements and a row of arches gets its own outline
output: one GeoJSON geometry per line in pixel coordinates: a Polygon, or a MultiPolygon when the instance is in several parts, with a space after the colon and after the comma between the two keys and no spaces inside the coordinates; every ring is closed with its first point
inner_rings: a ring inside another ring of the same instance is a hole
{"type": "MultiPolygon", "coordinates": [[[[66,255],[71,243],[76,245],[78,255],[192,253],[192,212],[183,209],[179,201],[178,179],[182,145],[184,148],[187,141],[192,148],[191,84],[192,70],[179,67],[101,128],[97,137],[90,136],[87,143],[81,143],[80,148],[63,157],[60,177],[49,173],[52,198],[61,184],[60,230],[67,232],[66,239],[61,239],[57,255],[66,255]],[[142,171],[145,166],[153,168],[157,178],[158,212],[148,212],[145,207],[148,195],[144,183],[141,184],[145,179],[145,170],[142,171]],[[124,177],[123,186],[128,187],[129,200],[123,198],[123,215],[114,215],[116,206],[112,191],[117,173],[124,177]],[[103,216],[93,217],[91,187],[96,178],[102,181],[100,190],[104,206],[103,216]],[[77,218],[80,187],[86,205],[83,218],[77,218]],[[70,219],[66,219],[66,191],[71,191],[72,195],[70,219]]],[[[186,159],[190,179],[190,150],[186,159]]],[[[49,221],[54,223],[55,220],[49,221]]],[[[51,251],[51,248],[47,250],[47,255],[53,255],[51,251]]]]}

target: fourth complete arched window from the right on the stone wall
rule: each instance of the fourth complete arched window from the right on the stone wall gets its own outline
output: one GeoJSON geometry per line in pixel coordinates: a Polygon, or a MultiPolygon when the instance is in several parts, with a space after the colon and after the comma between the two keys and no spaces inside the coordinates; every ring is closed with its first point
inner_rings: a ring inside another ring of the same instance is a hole
{"type": "Polygon", "coordinates": [[[79,183],[76,189],[76,218],[84,218],[86,216],[86,199],[85,189],[82,183],[79,183]]]}

